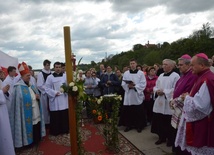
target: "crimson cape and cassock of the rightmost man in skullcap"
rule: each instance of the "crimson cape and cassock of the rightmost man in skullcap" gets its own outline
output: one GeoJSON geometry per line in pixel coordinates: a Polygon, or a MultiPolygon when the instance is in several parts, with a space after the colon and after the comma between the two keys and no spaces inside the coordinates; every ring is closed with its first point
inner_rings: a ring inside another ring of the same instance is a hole
{"type": "MultiPolygon", "coordinates": [[[[206,82],[211,104],[214,107],[214,74],[210,69],[204,70],[199,74],[197,81],[191,90],[190,96],[194,96],[201,85],[206,82]]],[[[201,120],[186,123],[186,143],[193,147],[214,147],[214,110],[211,114],[201,120]],[[200,134],[199,134],[200,133],[200,134]]]]}

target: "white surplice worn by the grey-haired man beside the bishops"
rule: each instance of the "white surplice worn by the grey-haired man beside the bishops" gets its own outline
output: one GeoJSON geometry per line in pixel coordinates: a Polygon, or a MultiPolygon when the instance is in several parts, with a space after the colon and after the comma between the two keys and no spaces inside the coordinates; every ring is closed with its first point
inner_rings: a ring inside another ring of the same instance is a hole
{"type": "Polygon", "coordinates": [[[179,78],[180,76],[175,72],[172,72],[169,76],[164,76],[164,73],[162,73],[158,77],[153,90],[154,90],[154,93],[156,93],[157,90],[162,89],[164,92],[164,95],[158,96],[155,99],[153,112],[161,113],[164,115],[173,114],[173,110],[169,106],[169,101],[172,98],[175,84],[179,78]]]}

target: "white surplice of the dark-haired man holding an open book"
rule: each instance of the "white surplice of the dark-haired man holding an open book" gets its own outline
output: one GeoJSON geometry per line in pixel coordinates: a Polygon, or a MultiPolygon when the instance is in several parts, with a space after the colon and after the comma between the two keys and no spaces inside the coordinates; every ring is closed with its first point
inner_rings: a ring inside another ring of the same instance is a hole
{"type": "Polygon", "coordinates": [[[144,100],[144,89],[146,88],[146,78],[142,71],[130,73],[126,71],[123,75],[123,80],[132,81],[135,84],[135,89],[129,89],[128,84],[122,81],[121,86],[125,90],[123,105],[140,105],[144,100]]]}

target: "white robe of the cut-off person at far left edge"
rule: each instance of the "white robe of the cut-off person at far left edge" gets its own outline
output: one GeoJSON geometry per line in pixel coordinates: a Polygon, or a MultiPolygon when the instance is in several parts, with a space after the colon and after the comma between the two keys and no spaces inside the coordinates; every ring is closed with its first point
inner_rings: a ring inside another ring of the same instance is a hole
{"type": "Polygon", "coordinates": [[[0,155],[15,155],[6,98],[0,90],[0,155]]]}

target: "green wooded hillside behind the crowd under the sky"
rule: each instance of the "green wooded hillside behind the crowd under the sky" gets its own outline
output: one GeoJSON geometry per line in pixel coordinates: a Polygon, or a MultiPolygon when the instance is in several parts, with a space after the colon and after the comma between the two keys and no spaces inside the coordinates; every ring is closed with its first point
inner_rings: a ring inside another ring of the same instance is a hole
{"type": "Polygon", "coordinates": [[[163,44],[157,44],[153,46],[144,46],[141,44],[133,45],[132,50],[122,51],[120,54],[103,59],[101,62],[95,63],[91,61],[91,64],[80,64],[79,68],[87,70],[89,68],[99,69],[99,64],[105,66],[118,66],[122,69],[124,66],[129,65],[129,60],[134,58],[138,64],[153,65],[154,63],[162,63],[163,59],[177,59],[183,54],[189,54],[193,56],[197,53],[204,52],[208,57],[212,57],[214,54],[214,28],[210,23],[202,25],[199,30],[193,31],[187,38],[181,38],[177,41],[164,42],[163,44]]]}

